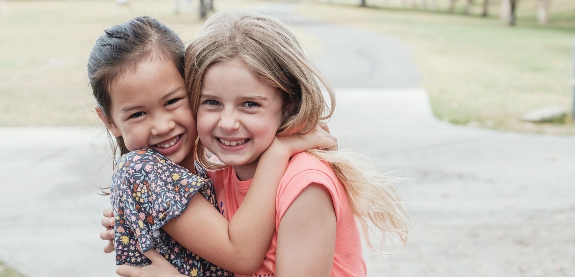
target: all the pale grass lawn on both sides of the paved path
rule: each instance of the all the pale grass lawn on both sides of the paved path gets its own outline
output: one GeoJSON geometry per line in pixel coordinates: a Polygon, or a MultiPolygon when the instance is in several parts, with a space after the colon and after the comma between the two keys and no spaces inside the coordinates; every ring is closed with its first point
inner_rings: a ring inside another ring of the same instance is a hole
{"type": "MultiPolygon", "coordinates": [[[[573,134],[567,124],[528,124],[529,109],[572,102],[572,44],[575,2],[554,0],[551,24],[536,24],[534,0],[522,0],[517,26],[497,19],[492,1],[481,18],[476,0],[471,16],[445,10],[404,9],[400,0],[367,1],[386,8],[356,7],[359,1],[300,2],[307,16],[372,30],[410,44],[413,62],[424,76],[436,117],[455,124],[486,128],[573,134]]],[[[430,0],[428,0],[430,1],[430,0]]],[[[184,1],[183,1],[184,2],[184,1]]],[[[114,14],[113,1],[8,1],[0,16],[0,126],[86,126],[99,124],[86,78],[90,49],[105,28],[136,15],[158,18],[191,40],[203,21],[195,8],[174,14],[173,1],[132,0],[132,9],[114,14]]],[[[193,2],[194,5],[196,2],[193,2]]],[[[216,1],[216,9],[249,7],[261,2],[216,1]]],[[[294,28],[303,44],[314,38],[294,28]]],[[[310,43],[310,45],[314,45],[310,43]]],[[[390,53],[392,55],[392,53],[390,53]]]]}

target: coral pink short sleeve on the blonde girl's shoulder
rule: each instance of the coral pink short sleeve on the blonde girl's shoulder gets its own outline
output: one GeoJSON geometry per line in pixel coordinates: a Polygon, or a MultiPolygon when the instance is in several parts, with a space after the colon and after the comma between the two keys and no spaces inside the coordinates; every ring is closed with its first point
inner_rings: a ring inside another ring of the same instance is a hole
{"type": "MultiPolygon", "coordinates": [[[[339,180],[336,182],[339,183],[339,180]]],[[[343,203],[340,197],[342,197],[341,193],[345,194],[345,191],[338,191],[336,182],[334,182],[329,175],[325,174],[325,172],[311,169],[298,172],[291,179],[287,180],[287,182],[280,183],[278,187],[278,198],[276,199],[279,221],[281,221],[283,215],[287,209],[289,209],[289,206],[292,205],[293,201],[296,200],[301,192],[310,184],[317,183],[323,185],[329,191],[336,221],[339,222],[339,214],[340,211],[343,210],[343,203]]],[[[343,196],[345,197],[345,195],[343,196]]]]}

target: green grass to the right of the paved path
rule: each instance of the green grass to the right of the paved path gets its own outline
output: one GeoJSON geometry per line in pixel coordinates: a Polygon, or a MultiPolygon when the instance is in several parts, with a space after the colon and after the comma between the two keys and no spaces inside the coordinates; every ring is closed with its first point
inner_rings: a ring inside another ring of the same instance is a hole
{"type": "Polygon", "coordinates": [[[551,24],[539,26],[533,1],[522,1],[517,26],[511,28],[496,18],[498,5],[490,7],[492,16],[481,18],[480,3],[470,16],[464,16],[440,10],[445,10],[443,7],[437,11],[401,9],[400,2],[393,0],[392,7],[385,9],[362,9],[345,1],[306,3],[298,10],[411,45],[413,62],[424,76],[436,117],[455,124],[520,132],[575,133],[569,122],[529,124],[519,119],[525,111],[545,105],[571,109],[575,2],[554,1],[551,24]]]}

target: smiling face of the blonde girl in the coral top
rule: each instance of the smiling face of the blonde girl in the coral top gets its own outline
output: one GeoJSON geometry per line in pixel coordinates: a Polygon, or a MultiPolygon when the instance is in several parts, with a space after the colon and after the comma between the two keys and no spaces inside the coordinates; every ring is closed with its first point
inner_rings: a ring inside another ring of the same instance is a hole
{"type": "Polygon", "coordinates": [[[251,179],[282,123],[282,106],[279,91],[260,82],[240,60],[213,64],[202,79],[198,135],[240,179],[251,179]]]}

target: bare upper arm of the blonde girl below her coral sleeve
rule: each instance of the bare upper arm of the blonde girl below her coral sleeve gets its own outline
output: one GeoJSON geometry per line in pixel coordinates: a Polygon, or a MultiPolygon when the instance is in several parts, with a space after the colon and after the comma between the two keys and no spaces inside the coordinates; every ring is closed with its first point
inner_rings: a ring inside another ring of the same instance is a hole
{"type": "Polygon", "coordinates": [[[321,184],[310,184],[279,224],[275,276],[331,275],[335,231],[331,195],[321,184]]]}

